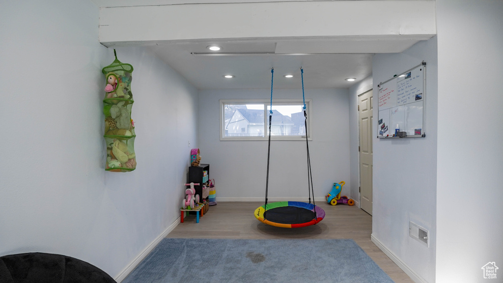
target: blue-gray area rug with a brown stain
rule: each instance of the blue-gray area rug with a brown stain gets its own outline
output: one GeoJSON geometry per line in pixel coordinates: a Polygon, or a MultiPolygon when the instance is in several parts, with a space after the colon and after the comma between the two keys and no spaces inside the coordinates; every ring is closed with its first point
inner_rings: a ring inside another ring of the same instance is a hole
{"type": "Polygon", "coordinates": [[[163,239],[122,281],[393,282],[353,240],[163,239]]]}

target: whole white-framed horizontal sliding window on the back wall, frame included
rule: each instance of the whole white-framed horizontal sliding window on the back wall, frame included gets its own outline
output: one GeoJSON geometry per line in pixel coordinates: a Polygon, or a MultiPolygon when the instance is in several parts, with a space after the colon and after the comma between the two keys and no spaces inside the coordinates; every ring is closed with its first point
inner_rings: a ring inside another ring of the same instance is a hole
{"type": "MultiPolygon", "coordinates": [[[[305,140],[303,103],[273,100],[271,139],[305,140]]],[[[306,100],[307,137],[311,139],[311,100],[306,100]]],[[[267,140],[270,100],[220,100],[220,140],[267,140]]]]}

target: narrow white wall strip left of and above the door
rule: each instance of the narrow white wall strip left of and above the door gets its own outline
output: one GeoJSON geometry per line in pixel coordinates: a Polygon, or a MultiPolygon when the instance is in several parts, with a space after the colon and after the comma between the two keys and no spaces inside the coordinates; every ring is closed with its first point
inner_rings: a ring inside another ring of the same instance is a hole
{"type": "Polygon", "coordinates": [[[358,96],[372,89],[372,75],[349,88],[349,129],[350,129],[350,180],[351,197],[360,203],[360,132],[358,124],[358,96]]]}

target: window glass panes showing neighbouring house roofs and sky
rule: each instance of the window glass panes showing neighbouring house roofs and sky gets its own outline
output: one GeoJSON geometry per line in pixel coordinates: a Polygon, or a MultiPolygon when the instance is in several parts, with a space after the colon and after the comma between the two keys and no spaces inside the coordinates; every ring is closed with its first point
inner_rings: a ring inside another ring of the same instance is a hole
{"type": "MultiPolygon", "coordinates": [[[[273,104],[271,136],[305,136],[302,103],[273,104]]],[[[269,130],[271,106],[260,104],[223,104],[224,137],[265,137],[269,130]]]]}

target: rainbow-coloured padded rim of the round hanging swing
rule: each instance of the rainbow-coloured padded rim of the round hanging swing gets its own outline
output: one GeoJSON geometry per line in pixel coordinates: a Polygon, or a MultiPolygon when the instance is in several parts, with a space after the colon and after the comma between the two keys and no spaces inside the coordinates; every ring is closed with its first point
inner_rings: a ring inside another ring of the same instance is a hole
{"type": "Polygon", "coordinates": [[[323,218],[325,217],[325,210],[323,208],[319,207],[318,205],[313,205],[312,203],[306,203],[306,202],[301,202],[301,201],[277,201],[277,202],[272,202],[267,204],[267,210],[265,209],[265,205],[259,206],[257,209],[255,209],[255,218],[257,218],[260,222],[265,223],[267,225],[271,226],[276,226],[276,227],[282,227],[282,228],[300,228],[300,227],[306,227],[306,226],[311,226],[319,223],[323,218]],[[264,219],[264,213],[265,211],[277,207],[283,207],[283,206],[294,206],[294,207],[300,207],[304,209],[308,209],[313,211],[316,214],[316,219],[313,219],[309,222],[305,223],[299,223],[299,224],[284,224],[284,223],[277,223],[277,222],[272,222],[267,219],[264,219]]]}

